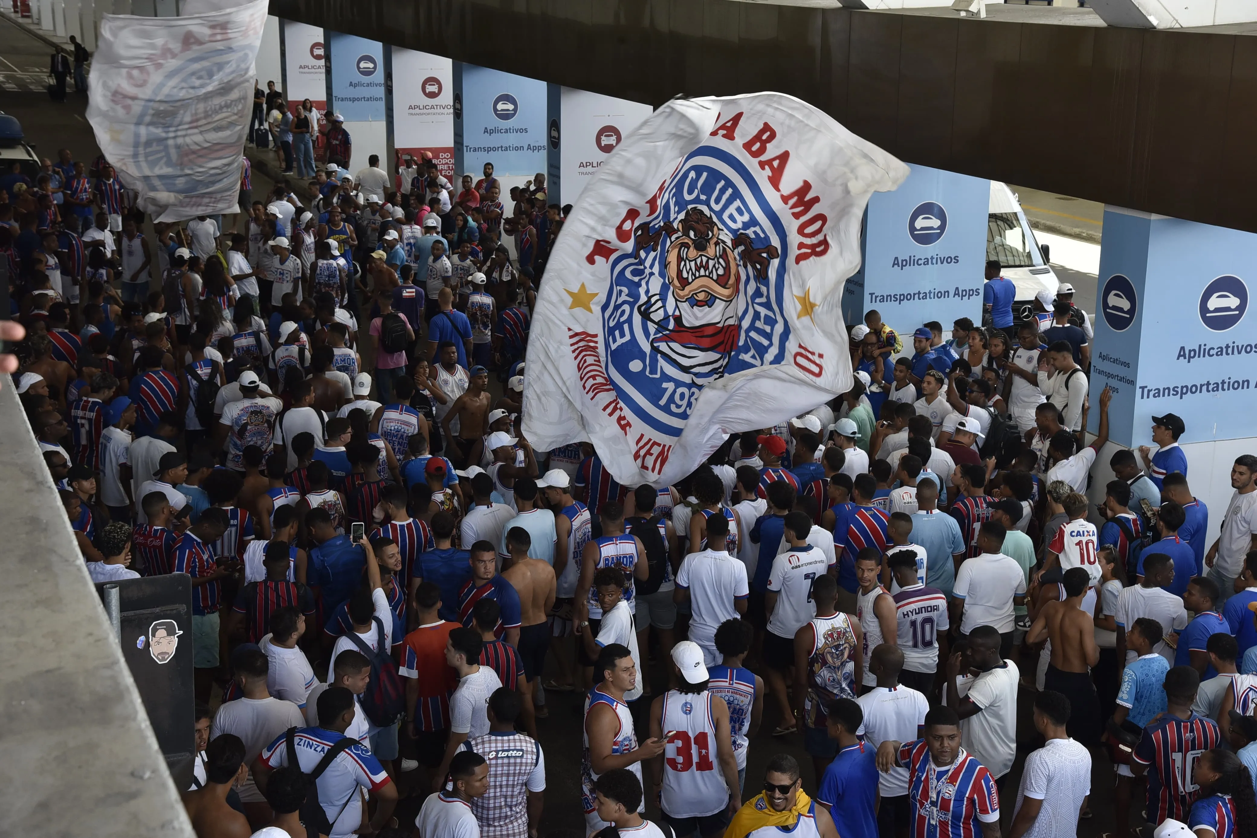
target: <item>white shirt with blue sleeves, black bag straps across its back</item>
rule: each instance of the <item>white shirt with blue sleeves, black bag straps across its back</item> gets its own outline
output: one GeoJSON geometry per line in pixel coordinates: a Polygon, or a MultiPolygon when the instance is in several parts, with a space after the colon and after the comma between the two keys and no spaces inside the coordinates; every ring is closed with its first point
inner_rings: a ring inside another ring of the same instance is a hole
{"type": "MultiPolygon", "coordinates": [[[[300,770],[305,774],[313,771],[328,749],[342,739],[344,739],[344,734],[322,727],[298,729],[293,740],[300,770]]],[[[263,749],[259,759],[270,769],[288,765],[287,735],[277,736],[263,749]]],[[[360,788],[368,793],[377,792],[388,783],[391,780],[383,766],[366,745],[354,743],[337,754],[323,775],[316,780],[319,805],[327,813],[328,820],[332,820],[332,832],[328,838],[349,838],[362,825],[360,788]]]]}

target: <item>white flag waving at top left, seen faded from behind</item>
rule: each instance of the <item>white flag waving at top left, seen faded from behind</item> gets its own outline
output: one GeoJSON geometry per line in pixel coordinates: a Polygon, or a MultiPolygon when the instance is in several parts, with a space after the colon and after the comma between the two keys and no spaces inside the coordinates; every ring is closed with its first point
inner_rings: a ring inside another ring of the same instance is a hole
{"type": "Polygon", "coordinates": [[[101,20],[87,118],[156,220],[236,211],[266,5],[201,0],[180,18],[101,20]]]}

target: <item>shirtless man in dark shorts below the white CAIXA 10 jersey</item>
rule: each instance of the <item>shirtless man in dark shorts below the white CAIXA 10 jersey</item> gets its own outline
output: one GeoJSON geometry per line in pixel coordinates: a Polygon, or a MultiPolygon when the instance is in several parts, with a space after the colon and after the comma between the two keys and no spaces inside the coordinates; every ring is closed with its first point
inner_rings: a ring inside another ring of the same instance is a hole
{"type": "MultiPolygon", "coordinates": [[[[1090,667],[1100,661],[1096,646],[1095,590],[1091,578],[1082,568],[1065,572],[1063,582],[1052,585],[1063,588],[1063,599],[1050,599],[1040,609],[1035,623],[1026,634],[1028,643],[1045,637],[1051,642],[1051,661],[1043,678],[1043,688],[1063,694],[1070,700],[1070,736],[1091,748],[1100,741],[1100,702],[1091,682],[1090,667]],[[1085,602],[1090,598],[1090,602],[1085,602]]],[[[1052,592],[1043,590],[1052,596],[1052,592]]],[[[1046,651],[1046,650],[1045,650],[1046,651]]]]}

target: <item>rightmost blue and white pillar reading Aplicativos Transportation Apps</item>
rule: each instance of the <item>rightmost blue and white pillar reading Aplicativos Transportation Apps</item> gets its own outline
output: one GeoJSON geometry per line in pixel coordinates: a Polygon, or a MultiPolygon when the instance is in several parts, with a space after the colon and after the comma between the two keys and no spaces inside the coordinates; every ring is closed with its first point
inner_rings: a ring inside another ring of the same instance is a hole
{"type": "MultiPolygon", "coordinates": [[[[1254,264],[1257,234],[1105,209],[1091,403],[1107,384],[1110,437],[1136,449],[1155,450],[1153,416],[1183,418],[1188,481],[1217,510],[1210,539],[1231,496],[1231,464],[1257,454],[1254,264]]],[[[1097,426],[1092,407],[1087,430],[1097,426]]]]}

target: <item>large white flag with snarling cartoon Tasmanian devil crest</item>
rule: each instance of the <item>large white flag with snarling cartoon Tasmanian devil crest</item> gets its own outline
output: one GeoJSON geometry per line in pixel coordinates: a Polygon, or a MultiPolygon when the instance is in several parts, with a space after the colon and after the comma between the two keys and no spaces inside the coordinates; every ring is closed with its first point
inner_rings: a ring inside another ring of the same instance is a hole
{"type": "Polygon", "coordinates": [[[851,388],[842,285],[908,167],[779,93],[672,101],[607,158],[537,300],[524,433],[670,484],[851,388]]]}

